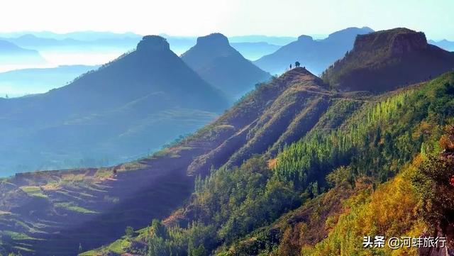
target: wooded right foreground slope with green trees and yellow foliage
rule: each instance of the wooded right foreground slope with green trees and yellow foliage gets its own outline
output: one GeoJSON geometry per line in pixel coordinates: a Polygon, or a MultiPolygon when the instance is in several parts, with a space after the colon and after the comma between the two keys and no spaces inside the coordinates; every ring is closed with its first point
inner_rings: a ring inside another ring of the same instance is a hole
{"type": "Polygon", "coordinates": [[[454,235],[454,129],[443,130],[452,123],[453,89],[449,72],[367,101],[332,98],[338,101],[276,158],[256,155],[211,171],[169,218],[82,255],[446,255],[454,235]],[[447,247],[365,248],[365,235],[440,236],[447,247]]]}

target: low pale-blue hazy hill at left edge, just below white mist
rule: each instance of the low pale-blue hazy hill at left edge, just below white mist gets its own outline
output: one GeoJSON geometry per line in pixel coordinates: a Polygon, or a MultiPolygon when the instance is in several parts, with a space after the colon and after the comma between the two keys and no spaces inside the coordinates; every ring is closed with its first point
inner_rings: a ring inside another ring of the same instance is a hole
{"type": "Polygon", "coordinates": [[[50,68],[16,69],[0,73],[0,96],[38,94],[62,87],[79,75],[99,66],[72,65],[50,68]]]}

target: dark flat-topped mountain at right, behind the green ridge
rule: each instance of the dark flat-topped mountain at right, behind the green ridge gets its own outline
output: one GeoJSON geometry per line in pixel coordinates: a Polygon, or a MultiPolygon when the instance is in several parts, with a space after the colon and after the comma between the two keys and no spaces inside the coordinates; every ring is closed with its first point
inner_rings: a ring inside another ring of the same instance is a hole
{"type": "Polygon", "coordinates": [[[339,90],[387,91],[453,70],[454,53],[406,28],[358,35],[353,50],[323,72],[339,90]]]}

